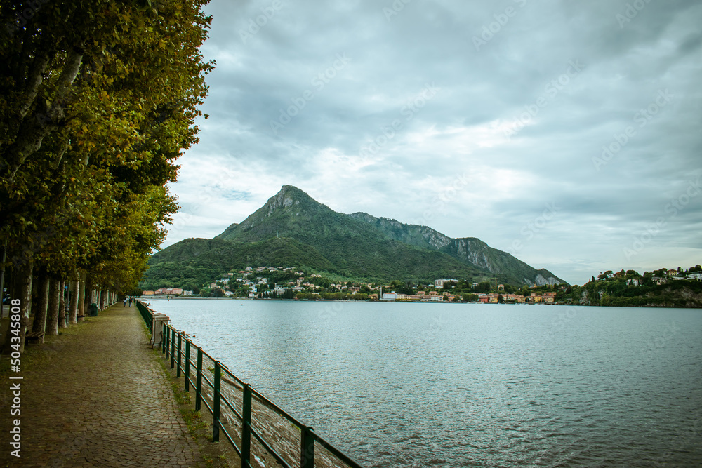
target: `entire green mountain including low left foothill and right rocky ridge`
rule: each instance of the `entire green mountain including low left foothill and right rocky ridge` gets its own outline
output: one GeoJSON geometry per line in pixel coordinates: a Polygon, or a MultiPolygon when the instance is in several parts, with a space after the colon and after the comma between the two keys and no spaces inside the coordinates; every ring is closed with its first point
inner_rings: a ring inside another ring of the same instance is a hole
{"type": "Polygon", "coordinates": [[[479,239],[451,239],[430,227],[366,213],[337,213],[284,185],[214,239],[185,239],[154,254],[141,286],[200,286],[247,266],[307,267],[369,281],[497,277],[515,285],[564,283],[479,239]]]}

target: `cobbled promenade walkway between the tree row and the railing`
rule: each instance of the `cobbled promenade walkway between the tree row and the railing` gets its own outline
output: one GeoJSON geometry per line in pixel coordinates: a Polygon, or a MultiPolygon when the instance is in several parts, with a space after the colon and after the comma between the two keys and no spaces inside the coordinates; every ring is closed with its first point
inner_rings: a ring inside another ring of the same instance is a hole
{"type": "Polygon", "coordinates": [[[23,380],[4,379],[1,466],[204,466],[137,308],[119,302],[79,326],[40,345],[46,356],[12,374],[23,380]],[[22,387],[21,460],[9,455],[8,382],[22,387]]]}

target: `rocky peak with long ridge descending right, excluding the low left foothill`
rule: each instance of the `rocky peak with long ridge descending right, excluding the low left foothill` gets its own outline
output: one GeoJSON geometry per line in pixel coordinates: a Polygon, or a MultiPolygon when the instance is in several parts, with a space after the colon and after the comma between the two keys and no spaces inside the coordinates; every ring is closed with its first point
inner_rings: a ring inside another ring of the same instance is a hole
{"type": "Polygon", "coordinates": [[[479,239],[452,239],[427,226],[367,213],[337,213],[293,185],[283,185],[264,206],[218,236],[246,243],[278,237],[314,248],[346,276],[392,279],[403,272],[403,281],[498,276],[513,284],[562,282],[479,239]]]}

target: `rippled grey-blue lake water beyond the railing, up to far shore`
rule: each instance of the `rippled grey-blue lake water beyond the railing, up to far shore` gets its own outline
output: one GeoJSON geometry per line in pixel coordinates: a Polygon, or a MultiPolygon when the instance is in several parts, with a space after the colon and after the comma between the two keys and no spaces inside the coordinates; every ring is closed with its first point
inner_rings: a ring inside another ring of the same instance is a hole
{"type": "Polygon", "coordinates": [[[702,309],[151,302],[367,467],[702,466],[702,309]]]}

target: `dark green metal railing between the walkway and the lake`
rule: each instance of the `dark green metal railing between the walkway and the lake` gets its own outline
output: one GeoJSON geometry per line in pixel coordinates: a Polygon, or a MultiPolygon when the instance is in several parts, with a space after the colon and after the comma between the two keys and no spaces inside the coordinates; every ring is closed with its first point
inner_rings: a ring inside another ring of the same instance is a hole
{"type": "MultiPolygon", "coordinates": [[[[137,302],[137,307],[153,335],[153,312],[141,302],[137,302]]],[[[286,468],[325,467],[332,466],[332,463],[333,466],[338,466],[339,461],[350,468],[362,468],[361,464],[314,432],[312,427],[298,421],[276,403],[253,389],[251,385],[232,374],[227,366],[195,345],[185,333],[176,330],[168,323],[163,323],[161,331],[161,354],[164,355],[164,359],[170,361],[171,369],[176,370],[177,378],[183,375],[185,392],[190,392],[191,387],[194,389],[195,410],[201,410],[204,404],[212,415],[212,441],[218,442],[221,432],[241,458],[242,468],[252,468],[251,450],[252,446],[256,445],[263,448],[260,450],[257,447],[259,455],[265,451],[286,468]],[[194,361],[192,361],[193,357],[194,361]],[[211,369],[204,366],[205,359],[212,363],[211,369]],[[223,389],[223,382],[227,389],[223,389]],[[211,394],[208,394],[208,390],[211,390],[211,394]],[[241,394],[240,398],[238,393],[241,394]],[[237,409],[237,402],[233,401],[235,399],[240,399],[240,410],[237,409]],[[223,422],[223,411],[231,413],[240,422],[238,434],[234,434],[230,428],[227,428],[227,422],[223,422]],[[270,424],[266,427],[265,422],[271,417],[286,420],[289,423],[293,430],[287,434],[287,439],[291,439],[290,434],[294,434],[294,438],[299,438],[295,444],[299,450],[291,451],[290,447],[285,447],[281,442],[286,439],[286,434],[276,432],[280,430],[280,424],[270,424]],[[254,427],[255,424],[252,422],[256,422],[259,427],[254,427]],[[268,434],[263,434],[264,432],[268,434]],[[297,435],[298,432],[299,435],[297,435]],[[235,437],[238,439],[238,444],[235,437]],[[275,443],[270,442],[271,440],[275,443]],[[317,456],[315,456],[315,444],[321,448],[317,456]]]]}

